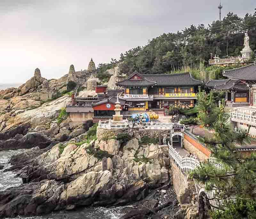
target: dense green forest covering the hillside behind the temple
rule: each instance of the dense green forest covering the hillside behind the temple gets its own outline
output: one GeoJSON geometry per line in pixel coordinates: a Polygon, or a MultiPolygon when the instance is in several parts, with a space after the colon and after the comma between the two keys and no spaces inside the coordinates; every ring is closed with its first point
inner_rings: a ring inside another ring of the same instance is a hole
{"type": "MultiPolygon", "coordinates": [[[[143,74],[191,72],[196,78],[207,81],[222,78],[222,67],[207,66],[213,56],[241,55],[244,32],[250,36],[252,51],[256,49],[256,13],[244,18],[229,12],[224,19],[213,21],[209,27],[190,25],[177,33],[162,34],[143,47],[135,47],[120,55],[121,73],[143,74]]],[[[238,63],[239,64],[239,63],[238,63]]]]}

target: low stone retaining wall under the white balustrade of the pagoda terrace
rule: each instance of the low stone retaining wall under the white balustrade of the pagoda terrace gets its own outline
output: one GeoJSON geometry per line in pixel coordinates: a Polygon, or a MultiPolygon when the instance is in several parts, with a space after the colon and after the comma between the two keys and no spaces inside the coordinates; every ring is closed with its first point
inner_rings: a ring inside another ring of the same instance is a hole
{"type": "MultiPolygon", "coordinates": [[[[159,137],[159,132],[161,132],[162,136],[168,134],[168,130],[141,130],[141,129],[136,130],[134,129],[135,137],[148,136],[148,137],[157,138],[159,137]]],[[[102,129],[99,127],[97,128],[98,139],[101,139],[104,136],[116,136],[119,133],[130,133],[130,130],[129,129],[102,129]]]]}

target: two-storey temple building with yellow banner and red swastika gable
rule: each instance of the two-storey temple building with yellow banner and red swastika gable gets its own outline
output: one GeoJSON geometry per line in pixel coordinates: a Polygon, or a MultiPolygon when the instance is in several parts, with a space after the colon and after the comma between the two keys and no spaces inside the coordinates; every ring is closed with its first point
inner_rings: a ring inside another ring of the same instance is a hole
{"type": "Polygon", "coordinates": [[[198,86],[202,84],[190,73],[140,74],[137,71],[116,83],[124,88],[120,99],[126,101],[129,111],[162,109],[165,103],[193,107],[198,86]]]}

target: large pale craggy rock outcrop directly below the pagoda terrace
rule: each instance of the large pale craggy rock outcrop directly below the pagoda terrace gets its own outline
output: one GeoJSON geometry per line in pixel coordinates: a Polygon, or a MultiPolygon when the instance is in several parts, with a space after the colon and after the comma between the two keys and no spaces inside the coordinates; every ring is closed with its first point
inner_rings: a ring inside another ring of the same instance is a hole
{"type": "MultiPolygon", "coordinates": [[[[94,144],[94,140],[82,145],[59,143],[26,161],[17,174],[26,184],[0,192],[0,216],[38,215],[91,204],[124,205],[169,182],[164,153],[157,145],[142,146],[132,139],[120,147],[117,140],[109,139],[97,142],[105,152],[92,153],[97,151],[94,144]],[[103,172],[97,155],[101,153],[109,154],[108,170],[103,172]]],[[[40,153],[38,148],[33,151],[40,153]]],[[[27,160],[30,152],[22,156],[27,160]]]]}

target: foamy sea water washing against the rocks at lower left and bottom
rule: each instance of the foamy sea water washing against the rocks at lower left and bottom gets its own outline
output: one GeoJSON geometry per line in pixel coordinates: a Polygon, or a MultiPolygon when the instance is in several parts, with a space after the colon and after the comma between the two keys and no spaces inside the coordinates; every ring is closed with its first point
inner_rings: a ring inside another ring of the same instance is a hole
{"type": "MultiPolygon", "coordinates": [[[[12,155],[19,154],[24,149],[20,150],[9,150],[0,151],[0,165],[4,165],[4,169],[11,167],[8,164],[8,160],[12,155]]],[[[4,170],[3,169],[3,170],[4,170]]],[[[13,172],[3,172],[0,170],[0,191],[4,191],[10,187],[19,186],[22,184],[21,178],[15,178],[15,173],[13,172]]],[[[42,216],[17,216],[16,219],[120,219],[125,212],[124,208],[132,206],[122,206],[122,207],[85,207],[73,211],[55,211],[51,214],[42,216]]],[[[11,218],[8,218],[11,219],[11,218]]],[[[12,218],[13,219],[13,218],[12,218]]]]}

